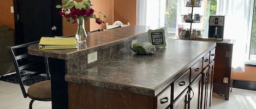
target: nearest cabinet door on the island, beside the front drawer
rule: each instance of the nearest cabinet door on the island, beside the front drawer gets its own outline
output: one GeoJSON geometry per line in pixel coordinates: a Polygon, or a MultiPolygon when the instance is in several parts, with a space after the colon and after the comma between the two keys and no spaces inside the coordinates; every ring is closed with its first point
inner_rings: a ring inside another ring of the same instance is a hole
{"type": "Polygon", "coordinates": [[[188,108],[188,89],[186,89],[173,103],[172,109],[187,109],[188,108]]]}

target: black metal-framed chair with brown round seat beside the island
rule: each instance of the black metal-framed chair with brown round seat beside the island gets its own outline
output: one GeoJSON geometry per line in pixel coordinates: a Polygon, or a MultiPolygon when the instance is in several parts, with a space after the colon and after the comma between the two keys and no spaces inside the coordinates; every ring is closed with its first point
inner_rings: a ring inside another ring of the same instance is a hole
{"type": "Polygon", "coordinates": [[[18,46],[8,47],[11,57],[13,57],[16,76],[19,81],[23,97],[32,99],[29,103],[29,109],[32,109],[32,104],[35,100],[51,101],[51,81],[47,57],[32,56],[27,54],[27,47],[38,42],[39,41],[35,41],[18,46]],[[43,73],[46,73],[47,80],[37,82],[29,86],[26,92],[23,81],[43,73]]]}

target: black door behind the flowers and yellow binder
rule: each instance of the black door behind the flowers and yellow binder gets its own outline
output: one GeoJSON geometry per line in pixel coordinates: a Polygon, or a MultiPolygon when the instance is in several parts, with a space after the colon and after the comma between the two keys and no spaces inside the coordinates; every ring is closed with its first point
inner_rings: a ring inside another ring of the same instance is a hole
{"type": "Polygon", "coordinates": [[[61,0],[14,0],[15,44],[38,41],[41,36],[61,36],[62,17],[57,4],[61,0]]]}

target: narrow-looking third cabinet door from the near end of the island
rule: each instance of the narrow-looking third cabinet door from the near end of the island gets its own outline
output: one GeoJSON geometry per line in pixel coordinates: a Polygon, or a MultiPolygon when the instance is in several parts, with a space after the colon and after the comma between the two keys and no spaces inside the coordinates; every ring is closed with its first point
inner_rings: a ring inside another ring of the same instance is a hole
{"type": "Polygon", "coordinates": [[[207,102],[207,74],[209,73],[209,66],[207,66],[202,72],[202,87],[201,87],[201,109],[206,109],[207,102]]]}

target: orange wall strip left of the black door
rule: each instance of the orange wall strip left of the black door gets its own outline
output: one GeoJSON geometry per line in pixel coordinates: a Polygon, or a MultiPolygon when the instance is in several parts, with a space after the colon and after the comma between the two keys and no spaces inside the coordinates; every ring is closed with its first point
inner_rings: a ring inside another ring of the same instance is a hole
{"type": "Polygon", "coordinates": [[[14,14],[10,11],[12,6],[13,0],[0,0],[0,24],[8,25],[10,29],[14,29],[14,14]]]}

